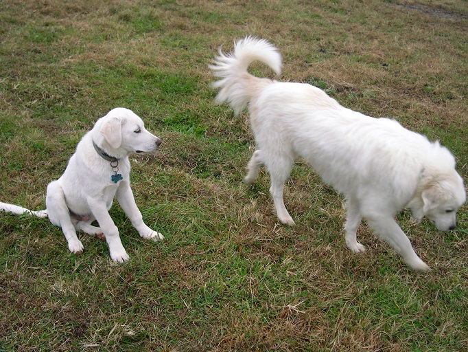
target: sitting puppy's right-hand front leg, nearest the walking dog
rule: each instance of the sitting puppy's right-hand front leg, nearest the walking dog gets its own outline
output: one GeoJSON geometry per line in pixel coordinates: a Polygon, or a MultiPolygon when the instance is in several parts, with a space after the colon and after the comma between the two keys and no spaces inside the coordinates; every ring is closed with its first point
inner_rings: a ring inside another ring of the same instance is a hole
{"type": "Polygon", "coordinates": [[[117,190],[117,201],[121,208],[124,210],[128,219],[132,221],[132,225],[137,229],[138,233],[143,239],[152,239],[153,241],[161,241],[164,236],[149,228],[144,222],[141,212],[135,203],[132,189],[130,185],[122,182],[117,190]]]}

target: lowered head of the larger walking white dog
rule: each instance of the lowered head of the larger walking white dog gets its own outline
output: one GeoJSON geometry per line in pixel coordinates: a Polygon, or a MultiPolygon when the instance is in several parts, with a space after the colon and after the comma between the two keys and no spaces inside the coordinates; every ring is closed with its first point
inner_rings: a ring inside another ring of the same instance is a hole
{"type": "Polygon", "coordinates": [[[447,231],[456,227],[456,212],[467,195],[462,178],[452,170],[425,185],[420,199],[419,207],[412,208],[415,217],[427,217],[438,230],[447,231]]]}

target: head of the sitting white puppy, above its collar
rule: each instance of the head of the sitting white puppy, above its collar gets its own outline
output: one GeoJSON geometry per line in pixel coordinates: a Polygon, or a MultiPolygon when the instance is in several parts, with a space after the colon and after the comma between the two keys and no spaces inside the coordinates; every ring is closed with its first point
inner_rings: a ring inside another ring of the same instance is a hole
{"type": "Polygon", "coordinates": [[[110,110],[97,120],[94,129],[95,143],[113,157],[152,152],[161,144],[158,137],[145,129],[138,115],[122,107],[110,110]]]}

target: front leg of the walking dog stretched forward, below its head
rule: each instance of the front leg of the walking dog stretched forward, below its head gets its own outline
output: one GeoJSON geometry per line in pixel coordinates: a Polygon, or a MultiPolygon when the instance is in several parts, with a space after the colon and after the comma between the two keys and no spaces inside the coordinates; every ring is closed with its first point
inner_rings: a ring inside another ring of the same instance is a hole
{"type": "Polygon", "coordinates": [[[371,216],[367,215],[366,219],[371,228],[373,228],[382,239],[390,243],[390,245],[403,256],[403,261],[412,267],[412,269],[423,273],[430,270],[430,267],[414,252],[410,240],[393,217],[372,214],[371,216]]]}

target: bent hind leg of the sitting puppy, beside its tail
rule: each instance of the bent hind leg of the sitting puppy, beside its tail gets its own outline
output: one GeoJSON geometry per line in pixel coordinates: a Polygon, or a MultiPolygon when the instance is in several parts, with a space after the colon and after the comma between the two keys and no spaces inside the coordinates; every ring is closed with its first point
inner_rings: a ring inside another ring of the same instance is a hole
{"type": "Polygon", "coordinates": [[[65,202],[65,195],[58,181],[52,181],[47,185],[47,195],[45,197],[45,205],[49,221],[62,228],[62,232],[67,239],[70,252],[79,254],[84,247],[81,241],[76,236],[75,226],[70,217],[70,212],[65,202]]]}

